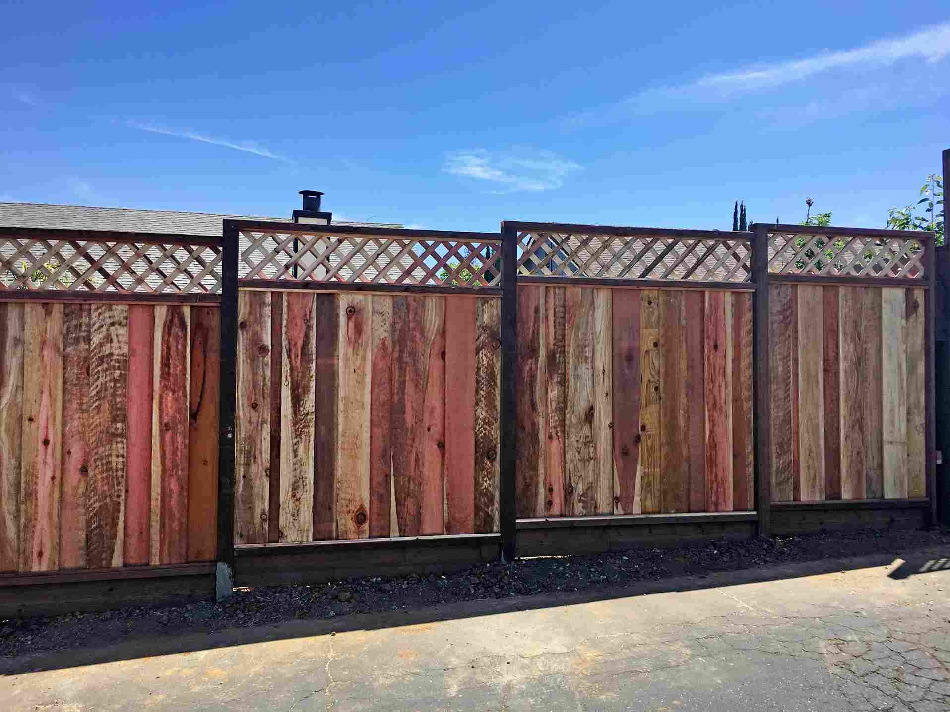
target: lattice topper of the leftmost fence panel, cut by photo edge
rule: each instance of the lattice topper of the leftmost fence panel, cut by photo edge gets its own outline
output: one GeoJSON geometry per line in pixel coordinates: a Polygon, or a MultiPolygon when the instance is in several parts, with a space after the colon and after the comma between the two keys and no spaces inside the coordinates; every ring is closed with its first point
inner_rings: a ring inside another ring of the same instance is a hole
{"type": "Polygon", "coordinates": [[[218,293],[221,249],[205,245],[11,237],[0,232],[0,289],[218,293]]]}

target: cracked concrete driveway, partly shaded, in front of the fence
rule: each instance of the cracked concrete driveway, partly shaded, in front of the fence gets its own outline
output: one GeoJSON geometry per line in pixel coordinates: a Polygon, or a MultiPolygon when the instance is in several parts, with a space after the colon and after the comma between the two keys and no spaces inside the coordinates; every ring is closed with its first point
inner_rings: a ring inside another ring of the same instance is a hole
{"type": "Polygon", "coordinates": [[[5,710],[945,710],[950,551],[0,661],[5,710]]]}

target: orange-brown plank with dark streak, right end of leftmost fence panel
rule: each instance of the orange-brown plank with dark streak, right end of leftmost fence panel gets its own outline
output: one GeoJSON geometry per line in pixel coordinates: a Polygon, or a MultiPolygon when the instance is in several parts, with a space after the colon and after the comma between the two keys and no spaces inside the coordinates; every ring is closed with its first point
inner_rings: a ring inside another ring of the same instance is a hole
{"type": "Polygon", "coordinates": [[[188,385],[188,561],[211,561],[218,549],[220,345],[220,309],[192,307],[188,385]]]}

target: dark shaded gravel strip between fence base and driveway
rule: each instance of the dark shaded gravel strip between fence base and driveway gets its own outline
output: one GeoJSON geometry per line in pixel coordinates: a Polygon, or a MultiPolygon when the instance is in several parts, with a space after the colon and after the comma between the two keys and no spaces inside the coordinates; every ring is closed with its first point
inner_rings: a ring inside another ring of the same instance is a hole
{"type": "Polygon", "coordinates": [[[279,625],[295,618],[415,609],[482,598],[557,590],[617,589],[637,581],[706,571],[736,571],[871,553],[906,553],[950,545],[946,528],[864,530],[747,541],[714,541],[678,549],[637,549],[590,556],[523,559],[488,564],[445,576],[361,578],[311,586],[238,590],[226,603],[172,608],[130,607],[101,613],[67,613],[0,620],[0,655],[104,646],[148,634],[212,632],[222,628],[279,625]]]}

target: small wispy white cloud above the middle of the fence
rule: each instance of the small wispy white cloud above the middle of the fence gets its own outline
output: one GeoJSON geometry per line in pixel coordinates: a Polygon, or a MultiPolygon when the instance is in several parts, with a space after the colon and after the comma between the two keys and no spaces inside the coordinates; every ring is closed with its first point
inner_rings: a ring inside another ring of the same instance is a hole
{"type": "Polygon", "coordinates": [[[561,159],[550,151],[496,154],[477,148],[453,151],[443,170],[455,176],[484,180],[502,186],[501,193],[540,192],[560,188],[564,177],[580,171],[573,160],[561,159]]]}

